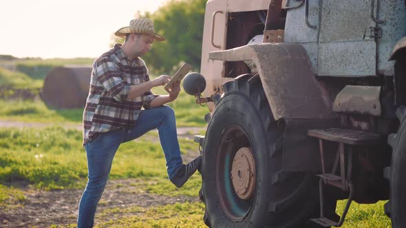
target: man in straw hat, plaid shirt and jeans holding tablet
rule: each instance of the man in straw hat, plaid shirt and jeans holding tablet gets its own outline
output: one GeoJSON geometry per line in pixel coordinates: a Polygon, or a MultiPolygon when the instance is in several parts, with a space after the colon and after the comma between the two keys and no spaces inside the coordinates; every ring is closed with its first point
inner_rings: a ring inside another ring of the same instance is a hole
{"type": "Polygon", "coordinates": [[[120,144],[158,128],[168,176],[176,187],[186,183],[202,160],[198,156],[182,164],[175,115],[173,109],[164,106],[178,98],[180,82],[167,90],[168,95],[153,94],[151,88],[167,84],[171,77],[162,75],[149,80],[145,62],[139,58],[151,49],[153,41],[165,38],[155,33],[149,19],[132,20],[116,36],[125,37],[125,41],[94,61],[83,112],[88,181],[79,203],[78,227],[93,226],[96,206],[120,144]]]}

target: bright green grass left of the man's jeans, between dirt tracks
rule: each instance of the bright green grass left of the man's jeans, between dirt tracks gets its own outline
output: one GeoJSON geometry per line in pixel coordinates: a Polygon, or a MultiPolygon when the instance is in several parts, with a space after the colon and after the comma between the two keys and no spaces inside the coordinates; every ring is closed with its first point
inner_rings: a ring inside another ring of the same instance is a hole
{"type": "Polygon", "coordinates": [[[81,134],[61,127],[0,128],[0,181],[63,189],[87,176],[81,134]]]}

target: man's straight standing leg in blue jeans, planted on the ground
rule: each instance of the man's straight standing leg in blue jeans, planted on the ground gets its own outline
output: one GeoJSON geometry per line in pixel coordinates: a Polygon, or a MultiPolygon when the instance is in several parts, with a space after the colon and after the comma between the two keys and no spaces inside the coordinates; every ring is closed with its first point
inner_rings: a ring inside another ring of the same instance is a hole
{"type": "Polygon", "coordinates": [[[96,207],[105,190],[111,163],[123,134],[122,130],[103,133],[85,145],[88,181],[79,203],[78,228],[93,227],[96,207]]]}

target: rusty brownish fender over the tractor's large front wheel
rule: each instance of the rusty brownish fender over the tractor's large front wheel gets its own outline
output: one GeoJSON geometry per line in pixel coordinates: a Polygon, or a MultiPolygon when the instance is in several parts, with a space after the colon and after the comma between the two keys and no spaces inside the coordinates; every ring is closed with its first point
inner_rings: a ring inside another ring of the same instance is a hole
{"type": "Polygon", "coordinates": [[[330,117],[327,98],[305,49],[295,43],[252,44],[211,52],[212,60],[253,60],[275,120],[330,117]]]}

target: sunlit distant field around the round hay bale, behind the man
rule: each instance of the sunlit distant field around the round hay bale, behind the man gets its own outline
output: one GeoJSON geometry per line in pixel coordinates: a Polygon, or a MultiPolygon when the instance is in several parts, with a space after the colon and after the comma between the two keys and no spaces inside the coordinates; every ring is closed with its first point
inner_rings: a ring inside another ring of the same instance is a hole
{"type": "MultiPolygon", "coordinates": [[[[39,99],[38,94],[43,87],[43,78],[53,67],[59,65],[89,65],[92,64],[92,61],[93,59],[90,58],[28,59],[14,62],[14,65],[17,65],[17,71],[10,71],[0,67],[0,119],[54,124],[82,122],[83,109],[50,109],[39,99]],[[31,99],[23,99],[26,97],[31,99]],[[36,99],[32,100],[32,98],[36,99]]],[[[154,76],[151,76],[151,78],[154,78],[154,76]]],[[[167,94],[163,87],[153,88],[153,91],[157,94],[167,94]]],[[[175,109],[178,126],[204,126],[206,124],[204,115],[209,110],[206,106],[195,104],[195,98],[187,95],[184,91],[181,91],[179,98],[175,102],[171,102],[169,106],[175,109]]]]}

